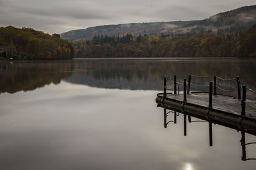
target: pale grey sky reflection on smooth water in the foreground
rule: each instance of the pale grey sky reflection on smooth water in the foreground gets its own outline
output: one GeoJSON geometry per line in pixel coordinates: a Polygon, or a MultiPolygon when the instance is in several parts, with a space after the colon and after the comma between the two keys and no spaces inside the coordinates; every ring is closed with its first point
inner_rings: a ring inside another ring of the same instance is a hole
{"type": "Polygon", "coordinates": [[[213,125],[210,147],[208,124],[188,124],[185,137],[180,115],[164,129],[156,93],[61,81],[1,94],[0,169],[255,169],[239,132],[213,125]]]}

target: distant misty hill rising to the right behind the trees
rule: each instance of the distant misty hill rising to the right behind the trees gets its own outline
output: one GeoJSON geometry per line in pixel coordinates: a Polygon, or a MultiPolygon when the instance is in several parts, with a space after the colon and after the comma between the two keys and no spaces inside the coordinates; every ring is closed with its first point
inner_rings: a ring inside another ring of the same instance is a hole
{"type": "Polygon", "coordinates": [[[216,32],[216,34],[223,34],[246,30],[255,24],[256,5],[253,5],[218,13],[204,20],[102,25],[64,32],[60,36],[63,39],[74,41],[77,39],[92,39],[95,35],[117,36],[127,32],[134,36],[140,34],[182,34],[186,32],[216,32]]]}

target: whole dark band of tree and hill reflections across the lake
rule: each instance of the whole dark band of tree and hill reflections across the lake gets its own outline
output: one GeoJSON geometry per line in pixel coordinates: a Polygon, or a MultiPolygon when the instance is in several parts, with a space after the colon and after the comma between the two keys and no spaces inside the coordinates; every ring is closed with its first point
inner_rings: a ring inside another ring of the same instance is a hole
{"type": "MultiPolygon", "coordinates": [[[[239,59],[75,59],[41,62],[0,62],[1,92],[34,90],[61,80],[104,89],[162,90],[163,75],[188,74],[241,77],[256,87],[256,60],[239,59]]],[[[203,84],[205,80],[195,80],[203,84]]],[[[221,84],[221,82],[220,82],[221,84]]],[[[225,84],[225,86],[227,86],[225,84]]],[[[182,90],[182,87],[181,87],[182,90]]]]}

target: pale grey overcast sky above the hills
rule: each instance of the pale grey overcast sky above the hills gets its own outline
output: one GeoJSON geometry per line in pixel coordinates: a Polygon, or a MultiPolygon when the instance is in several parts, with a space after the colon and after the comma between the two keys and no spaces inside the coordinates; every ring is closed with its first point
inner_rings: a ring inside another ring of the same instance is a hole
{"type": "Polygon", "coordinates": [[[0,0],[0,26],[49,34],[97,25],[198,20],[255,0],[0,0]]]}

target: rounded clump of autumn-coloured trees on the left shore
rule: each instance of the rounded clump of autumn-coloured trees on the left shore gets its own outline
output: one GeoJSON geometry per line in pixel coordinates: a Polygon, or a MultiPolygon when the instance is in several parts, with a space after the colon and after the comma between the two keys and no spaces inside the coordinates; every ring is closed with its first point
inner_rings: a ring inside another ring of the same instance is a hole
{"type": "Polygon", "coordinates": [[[1,57],[14,59],[72,59],[74,47],[58,34],[45,34],[31,28],[0,27],[1,57]]]}

